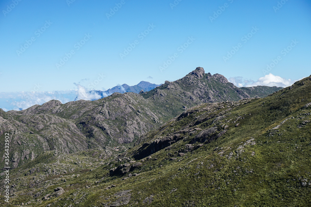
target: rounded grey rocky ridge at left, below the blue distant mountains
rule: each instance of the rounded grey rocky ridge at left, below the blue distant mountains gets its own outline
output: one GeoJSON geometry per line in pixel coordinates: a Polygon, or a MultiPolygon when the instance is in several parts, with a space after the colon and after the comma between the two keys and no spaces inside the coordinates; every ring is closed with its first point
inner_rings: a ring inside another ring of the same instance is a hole
{"type": "MultiPolygon", "coordinates": [[[[43,151],[73,153],[130,143],[166,116],[135,93],[114,93],[97,101],[49,101],[22,111],[2,111],[1,136],[11,132],[13,167],[43,151]]],[[[4,160],[1,160],[2,164],[4,160]]]]}

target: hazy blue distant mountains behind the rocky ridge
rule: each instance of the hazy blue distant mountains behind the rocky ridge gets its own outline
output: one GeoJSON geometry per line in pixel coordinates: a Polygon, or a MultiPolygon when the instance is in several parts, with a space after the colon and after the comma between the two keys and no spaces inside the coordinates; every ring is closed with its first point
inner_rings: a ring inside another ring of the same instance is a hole
{"type": "MultiPolygon", "coordinates": [[[[162,85],[162,84],[160,84],[162,85]]],[[[113,88],[109,88],[107,91],[97,91],[97,90],[92,90],[92,91],[89,91],[88,93],[89,94],[98,94],[101,96],[101,98],[104,98],[104,97],[107,97],[107,96],[110,96],[111,94],[113,93],[125,93],[125,92],[134,92],[134,93],[139,93],[139,92],[147,92],[147,91],[151,91],[152,89],[160,86],[160,85],[157,85],[157,84],[154,84],[154,83],[149,83],[147,81],[141,81],[139,82],[137,85],[134,85],[134,86],[129,86],[128,84],[122,84],[122,85],[117,85],[113,88]]],[[[78,100],[78,97],[75,98],[74,101],[77,101],[78,100]]],[[[95,100],[98,100],[98,99],[94,99],[94,100],[91,100],[91,101],[95,101],[95,100]]]]}

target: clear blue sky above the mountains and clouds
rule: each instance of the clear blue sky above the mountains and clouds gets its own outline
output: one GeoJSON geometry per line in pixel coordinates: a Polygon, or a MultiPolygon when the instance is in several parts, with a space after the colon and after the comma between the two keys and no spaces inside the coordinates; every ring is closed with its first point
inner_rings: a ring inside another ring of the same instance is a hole
{"type": "Polygon", "coordinates": [[[198,66],[206,73],[257,81],[277,56],[281,60],[269,73],[284,79],[311,74],[311,2],[307,0],[283,0],[278,10],[278,1],[271,0],[182,0],[176,7],[174,0],[69,2],[0,1],[1,92],[70,90],[77,88],[73,83],[98,90],[142,80],[159,84],[182,78],[198,66]],[[122,7],[108,19],[106,14],[116,4],[122,7]],[[219,15],[211,22],[217,10],[219,15]],[[253,27],[259,30],[252,31],[253,27]],[[148,28],[146,37],[138,36],[148,28]],[[242,41],[251,31],[252,37],[242,41]],[[25,52],[17,52],[31,39],[35,41],[25,52]],[[135,48],[121,58],[135,40],[135,48]],[[284,56],[281,51],[292,40],[298,43],[284,56]],[[179,48],[187,41],[188,48],[179,48]],[[77,42],[85,44],[80,47],[77,42]],[[242,47],[225,62],[224,56],[239,43],[242,47]],[[71,51],[74,54],[58,69],[56,64],[71,51]],[[175,60],[160,70],[174,53],[175,60]]]}

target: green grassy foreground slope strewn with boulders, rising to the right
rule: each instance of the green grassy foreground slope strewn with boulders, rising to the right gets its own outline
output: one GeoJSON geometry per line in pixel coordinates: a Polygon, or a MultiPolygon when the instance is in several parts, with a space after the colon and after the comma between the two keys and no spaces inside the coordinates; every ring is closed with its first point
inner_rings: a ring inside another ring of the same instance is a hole
{"type": "MultiPolygon", "coordinates": [[[[173,86],[163,90],[177,92],[173,86]]],[[[309,91],[311,76],[265,98],[202,103],[140,136],[130,148],[42,152],[10,171],[10,202],[29,206],[309,206],[309,91]]],[[[227,97],[230,92],[228,88],[227,97]]],[[[20,118],[35,111],[57,112],[63,106],[57,104],[36,106],[20,118]]],[[[3,111],[0,115],[10,116],[3,111]]],[[[5,173],[0,175],[3,178],[5,173]]],[[[0,203],[4,205],[4,199],[0,203]]]]}

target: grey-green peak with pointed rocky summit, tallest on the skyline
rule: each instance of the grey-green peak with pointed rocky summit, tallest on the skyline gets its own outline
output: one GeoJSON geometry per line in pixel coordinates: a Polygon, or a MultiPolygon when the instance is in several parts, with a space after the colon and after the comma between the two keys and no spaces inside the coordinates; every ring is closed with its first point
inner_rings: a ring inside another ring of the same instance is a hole
{"type": "Polygon", "coordinates": [[[205,73],[202,67],[197,67],[182,79],[169,82],[142,94],[151,99],[156,105],[162,106],[165,111],[172,111],[173,116],[201,103],[238,101],[243,98],[266,97],[282,88],[256,86],[238,88],[230,83],[223,75],[205,73]],[[249,94],[247,93],[249,92],[249,94]],[[258,92],[258,95],[256,94],[258,92]],[[183,107],[185,106],[185,107],[183,107]]]}

